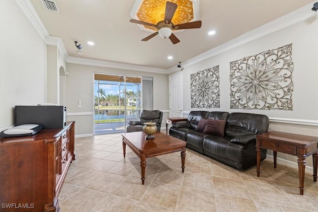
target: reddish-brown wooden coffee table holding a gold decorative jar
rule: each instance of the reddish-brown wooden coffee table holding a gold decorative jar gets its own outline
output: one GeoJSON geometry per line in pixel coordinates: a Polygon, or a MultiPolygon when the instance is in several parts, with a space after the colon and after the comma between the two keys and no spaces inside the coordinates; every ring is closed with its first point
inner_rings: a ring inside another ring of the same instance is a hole
{"type": "Polygon", "coordinates": [[[126,144],[140,157],[141,180],[145,184],[146,158],[181,151],[181,168],[184,172],[185,141],[155,133],[155,139],[146,140],[144,132],[123,133],[123,152],[126,156],[126,144]]]}

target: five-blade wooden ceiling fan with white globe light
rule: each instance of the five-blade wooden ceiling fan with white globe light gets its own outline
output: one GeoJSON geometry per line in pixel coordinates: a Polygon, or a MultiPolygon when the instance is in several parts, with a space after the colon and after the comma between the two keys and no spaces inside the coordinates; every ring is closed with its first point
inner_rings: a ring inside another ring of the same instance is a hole
{"type": "Polygon", "coordinates": [[[142,39],[142,41],[148,41],[159,34],[159,36],[164,39],[168,37],[173,44],[179,43],[180,40],[172,33],[172,30],[200,28],[202,25],[202,21],[193,21],[193,22],[174,25],[171,22],[171,19],[174,15],[175,10],[177,9],[177,6],[178,5],[176,3],[167,1],[165,4],[164,20],[159,21],[157,25],[152,23],[147,23],[145,21],[136,20],[136,19],[130,19],[130,22],[152,26],[158,29],[158,32],[155,32],[147,36],[146,38],[142,39]]]}

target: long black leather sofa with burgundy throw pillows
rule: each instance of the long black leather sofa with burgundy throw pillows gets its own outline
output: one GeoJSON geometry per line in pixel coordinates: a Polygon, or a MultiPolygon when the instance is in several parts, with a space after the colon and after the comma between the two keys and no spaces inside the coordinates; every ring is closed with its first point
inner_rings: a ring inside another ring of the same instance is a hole
{"type": "MultiPolygon", "coordinates": [[[[268,126],[268,117],[260,114],[191,111],[187,121],[172,124],[169,135],[186,141],[190,149],[244,170],[256,165],[255,135],[267,132],[268,126]],[[196,130],[201,119],[224,120],[224,136],[196,130]]],[[[261,160],[266,151],[262,149],[261,160]]]]}

